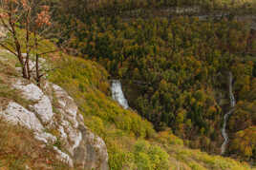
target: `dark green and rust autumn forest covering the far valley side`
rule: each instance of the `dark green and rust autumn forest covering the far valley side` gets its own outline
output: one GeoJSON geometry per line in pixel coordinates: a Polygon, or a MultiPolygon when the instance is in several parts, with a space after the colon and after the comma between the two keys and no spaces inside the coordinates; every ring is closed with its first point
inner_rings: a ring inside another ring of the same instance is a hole
{"type": "Polygon", "coordinates": [[[237,15],[254,11],[253,2],[207,0],[73,1],[53,10],[64,28],[59,45],[104,66],[132,109],[192,148],[220,153],[231,71],[237,105],[226,155],[246,161],[256,159],[256,31],[237,15]],[[177,7],[202,10],[158,13],[177,7]],[[222,15],[200,17],[214,12],[222,15]]]}

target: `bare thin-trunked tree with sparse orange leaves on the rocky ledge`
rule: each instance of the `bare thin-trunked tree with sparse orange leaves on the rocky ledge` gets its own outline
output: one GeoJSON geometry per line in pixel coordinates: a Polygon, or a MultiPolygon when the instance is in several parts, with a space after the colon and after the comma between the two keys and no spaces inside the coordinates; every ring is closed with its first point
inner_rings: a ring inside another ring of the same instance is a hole
{"type": "Polygon", "coordinates": [[[0,24],[6,33],[0,35],[0,46],[15,55],[22,67],[25,79],[34,79],[40,86],[39,57],[53,52],[40,51],[41,38],[52,26],[50,8],[34,0],[0,0],[0,24]],[[22,33],[20,33],[22,32],[22,33]],[[35,74],[32,75],[32,56],[35,74]]]}

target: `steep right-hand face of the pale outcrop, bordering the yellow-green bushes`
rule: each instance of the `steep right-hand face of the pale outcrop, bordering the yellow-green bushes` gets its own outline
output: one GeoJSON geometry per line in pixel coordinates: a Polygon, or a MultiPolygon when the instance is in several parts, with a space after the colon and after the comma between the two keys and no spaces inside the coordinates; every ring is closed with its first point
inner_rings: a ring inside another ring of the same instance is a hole
{"type": "Polygon", "coordinates": [[[46,86],[52,86],[53,95],[57,99],[57,110],[62,113],[58,129],[62,140],[69,143],[68,150],[73,156],[74,164],[83,169],[108,169],[106,144],[85,126],[82,115],[77,114],[74,100],[60,86],[46,86]]]}

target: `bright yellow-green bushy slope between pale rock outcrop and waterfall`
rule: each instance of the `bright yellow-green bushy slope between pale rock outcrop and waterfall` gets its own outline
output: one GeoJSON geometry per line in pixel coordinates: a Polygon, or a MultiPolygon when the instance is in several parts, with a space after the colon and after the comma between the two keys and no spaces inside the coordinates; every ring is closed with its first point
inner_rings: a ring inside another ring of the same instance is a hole
{"type": "Polygon", "coordinates": [[[111,169],[249,169],[238,161],[187,149],[171,130],[156,133],[151,123],[110,98],[108,74],[95,62],[66,56],[57,66],[62,69],[54,70],[50,80],[69,92],[85,123],[104,139],[111,169]]]}

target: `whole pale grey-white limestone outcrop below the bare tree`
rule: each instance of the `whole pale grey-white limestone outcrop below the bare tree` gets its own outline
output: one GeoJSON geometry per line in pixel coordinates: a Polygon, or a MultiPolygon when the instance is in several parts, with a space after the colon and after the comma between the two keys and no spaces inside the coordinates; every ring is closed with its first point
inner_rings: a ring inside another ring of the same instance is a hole
{"type": "Polygon", "coordinates": [[[38,141],[54,144],[56,158],[71,167],[108,169],[105,142],[85,126],[73,98],[65,90],[46,83],[43,92],[22,79],[12,82],[13,88],[19,90],[23,98],[32,104],[25,108],[9,102],[5,109],[0,110],[2,119],[31,129],[38,141]]]}

